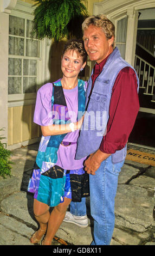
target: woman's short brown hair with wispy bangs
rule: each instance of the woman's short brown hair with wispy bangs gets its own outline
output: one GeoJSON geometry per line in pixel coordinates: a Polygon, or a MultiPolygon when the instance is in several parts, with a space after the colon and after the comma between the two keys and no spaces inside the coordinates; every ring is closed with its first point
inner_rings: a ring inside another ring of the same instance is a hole
{"type": "Polygon", "coordinates": [[[63,52],[62,52],[62,56],[64,55],[64,53],[68,50],[74,50],[77,53],[79,53],[79,55],[81,57],[83,57],[83,63],[87,61],[87,52],[85,50],[84,44],[83,44],[83,40],[80,39],[72,39],[70,41],[68,41],[63,48],[63,52]]]}

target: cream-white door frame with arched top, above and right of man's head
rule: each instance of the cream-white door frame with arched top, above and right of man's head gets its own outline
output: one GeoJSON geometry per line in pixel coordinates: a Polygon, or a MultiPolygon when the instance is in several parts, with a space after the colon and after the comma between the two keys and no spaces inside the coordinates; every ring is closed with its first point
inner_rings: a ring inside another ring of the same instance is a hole
{"type": "Polygon", "coordinates": [[[126,15],[128,16],[125,60],[132,66],[134,66],[138,10],[154,7],[154,0],[105,0],[100,3],[94,3],[93,14],[105,14],[114,23],[116,33],[117,21],[126,15]]]}

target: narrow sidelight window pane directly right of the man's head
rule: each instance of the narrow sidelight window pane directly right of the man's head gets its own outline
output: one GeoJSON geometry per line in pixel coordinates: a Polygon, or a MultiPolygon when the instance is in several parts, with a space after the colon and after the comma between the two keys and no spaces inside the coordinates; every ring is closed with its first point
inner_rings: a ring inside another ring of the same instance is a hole
{"type": "Polygon", "coordinates": [[[119,48],[121,57],[125,59],[127,17],[117,22],[116,46],[119,48]]]}

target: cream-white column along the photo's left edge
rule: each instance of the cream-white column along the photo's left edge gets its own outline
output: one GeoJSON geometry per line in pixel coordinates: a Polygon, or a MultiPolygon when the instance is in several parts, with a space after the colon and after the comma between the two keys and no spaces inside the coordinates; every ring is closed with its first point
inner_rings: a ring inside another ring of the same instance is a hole
{"type": "Polygon", "coordinates": [[[8,48],[9,48],[9,13],[14,8],[16,0],[0,1],[0,129],[4,131],[6,139],[2,142],[8,142],[8,48]],[[8,8],[8,9],[7,9],[8,8]]]}

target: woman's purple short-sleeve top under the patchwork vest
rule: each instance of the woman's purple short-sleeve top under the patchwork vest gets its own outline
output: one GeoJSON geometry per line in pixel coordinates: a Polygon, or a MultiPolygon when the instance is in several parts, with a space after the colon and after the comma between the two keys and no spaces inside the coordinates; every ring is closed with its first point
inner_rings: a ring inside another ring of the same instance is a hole
{"type": "MultiPolygon", "coordinates": [[[[51,96],[53,92],[53,84],[47,83],[42,86],[36,97],[36,105],[34,112],[34,123],[41,126],[48,126],[53,124],[53,115],[51,113],[51,96]]],[[[66,99],[69,117],[72,122],[76,122],[78,116],[78,86],[73,89],[63,89],[66,99]]],[[[78,140],[79,130],[69,132],[64,137],[63,141],[76,142],[78,140]]],[[[64,147],[60,144],[57,151],[56,165],[63,169],[79,169],[83,167],[83,161],[86,157],[75,160],[76,144],[64,147]]]]}

